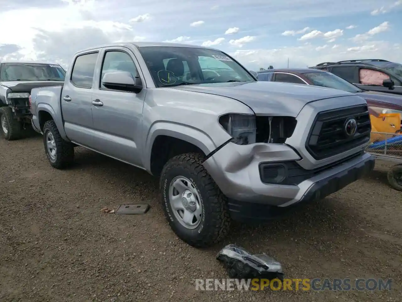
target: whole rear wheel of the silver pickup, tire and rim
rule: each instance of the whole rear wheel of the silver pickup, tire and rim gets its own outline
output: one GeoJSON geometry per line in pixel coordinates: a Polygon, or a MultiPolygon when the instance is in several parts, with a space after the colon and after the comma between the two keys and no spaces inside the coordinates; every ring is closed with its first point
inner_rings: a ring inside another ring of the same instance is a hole
{"type": "Polygon", "coordinates": [[[62,139],[53,120],[43,126],[43,145],[50,165],[56,169],[64,169],[74,162],[74,145],[62,139]]]}

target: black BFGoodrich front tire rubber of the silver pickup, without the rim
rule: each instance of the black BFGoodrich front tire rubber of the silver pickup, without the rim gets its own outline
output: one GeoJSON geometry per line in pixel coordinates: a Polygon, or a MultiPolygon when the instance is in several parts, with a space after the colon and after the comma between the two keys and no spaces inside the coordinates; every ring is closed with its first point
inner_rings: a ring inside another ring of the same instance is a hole
{"type": "Polygon", "coordinates": [[[203,157],[196,153],[178,155],[166,163],[160,177],[162,205],[170,227],[181,240],[198,248],[219,242],[230,228],[227,198],[205,170],[202,162],[203,157]],[[177,176],[190,180],[201,199],[202,217],[196,228],[185,228],[177,220],[170,205],[169,187],[177,176]]]}

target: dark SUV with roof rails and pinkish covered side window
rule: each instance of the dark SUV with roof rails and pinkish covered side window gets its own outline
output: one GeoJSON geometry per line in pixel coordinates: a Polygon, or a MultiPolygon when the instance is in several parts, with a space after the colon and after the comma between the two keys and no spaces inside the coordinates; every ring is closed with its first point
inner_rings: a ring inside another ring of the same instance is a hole
{"type": "Polygon", "coordinates": [[[324,62],[314,69],[327,70],[363,90],[402,95],[402,65],[386,60],[324,62]]]}

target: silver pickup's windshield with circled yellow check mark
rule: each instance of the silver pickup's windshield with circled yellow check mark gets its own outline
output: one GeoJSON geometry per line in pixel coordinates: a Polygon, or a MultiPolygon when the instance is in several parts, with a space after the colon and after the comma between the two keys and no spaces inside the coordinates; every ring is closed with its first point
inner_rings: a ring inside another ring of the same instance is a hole
{"type": "Polygon", "coordinates": [[[223,52],[204,48],[140,47],[156,87],[255,81],[223,52]]]}

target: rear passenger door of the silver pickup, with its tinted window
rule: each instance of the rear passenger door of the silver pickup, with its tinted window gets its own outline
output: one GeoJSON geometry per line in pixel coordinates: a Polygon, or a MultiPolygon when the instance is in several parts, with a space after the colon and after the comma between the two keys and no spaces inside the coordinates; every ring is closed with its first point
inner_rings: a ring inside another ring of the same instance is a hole
{"type": "Polygon", "coordinates": [[[67,137],[74,143],[92,145],[92,92],[99,52],[78,55],[62,89],[62,114],[67,137]]]}

